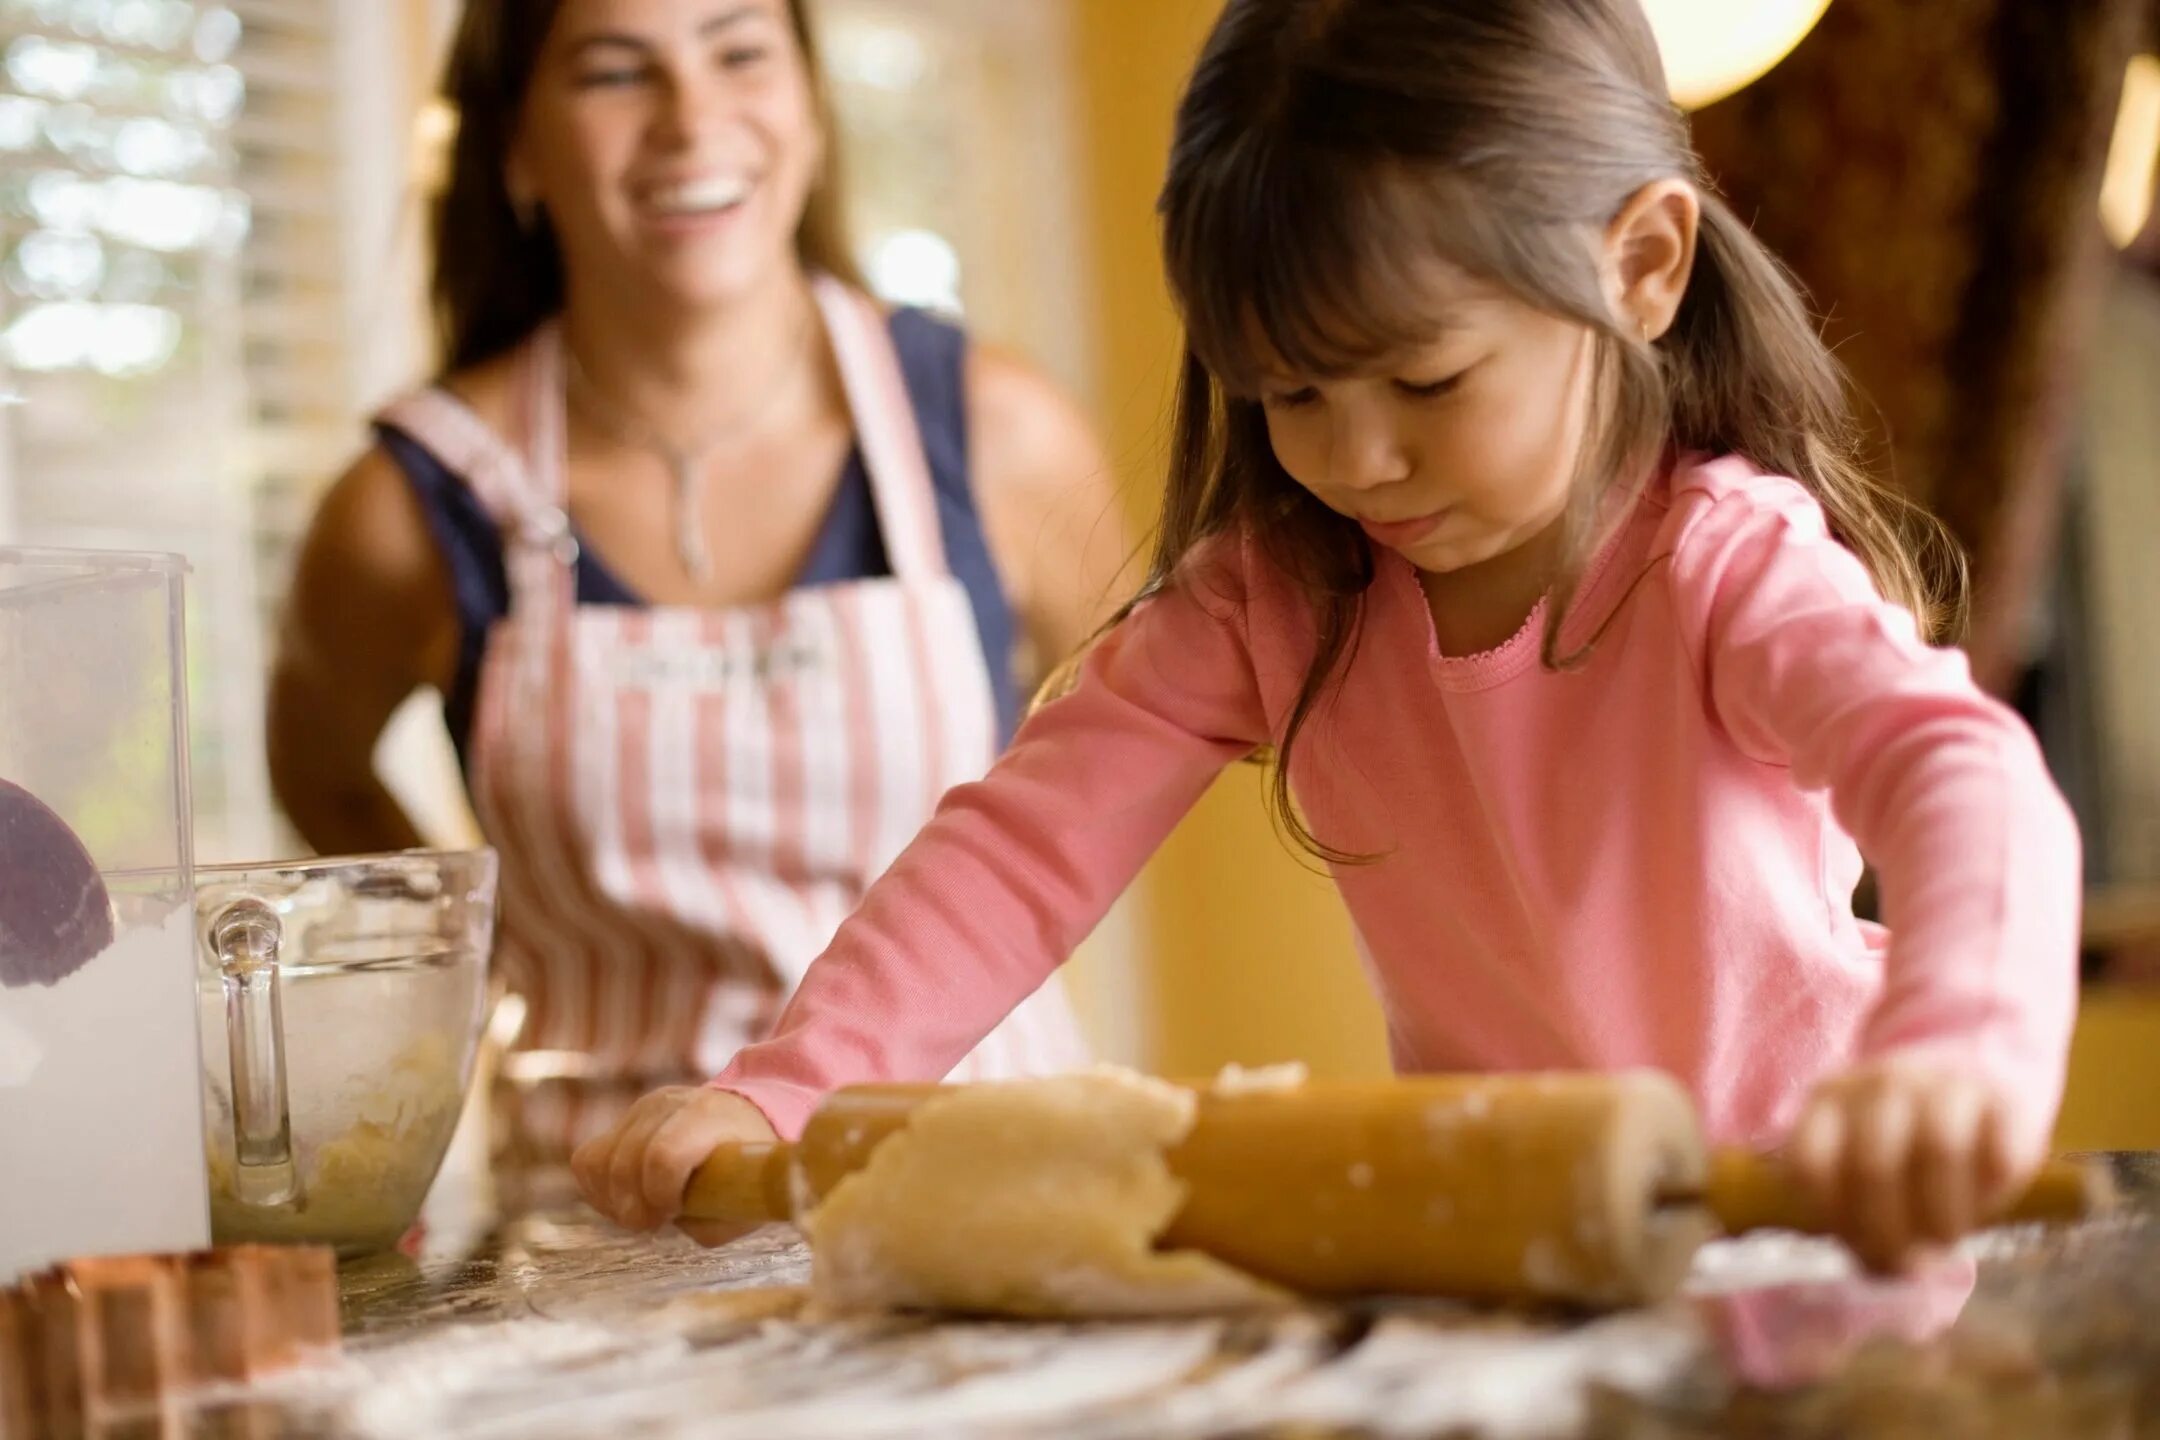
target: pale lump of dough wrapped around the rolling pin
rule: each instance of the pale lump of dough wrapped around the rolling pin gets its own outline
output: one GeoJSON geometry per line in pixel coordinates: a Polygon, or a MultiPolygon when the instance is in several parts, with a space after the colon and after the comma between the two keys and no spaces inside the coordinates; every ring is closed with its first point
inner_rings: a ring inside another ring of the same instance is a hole
{"type": "Polygon", "coordinates": [[[804,1218],[812,1298],[1028,1319],[1290,1306],[1220,1261],[1153,1248],[1184,1205],[1164,1153],[1192,1114],[1188,1090],[1115,1069],[927,1101],[804,1218]]]}

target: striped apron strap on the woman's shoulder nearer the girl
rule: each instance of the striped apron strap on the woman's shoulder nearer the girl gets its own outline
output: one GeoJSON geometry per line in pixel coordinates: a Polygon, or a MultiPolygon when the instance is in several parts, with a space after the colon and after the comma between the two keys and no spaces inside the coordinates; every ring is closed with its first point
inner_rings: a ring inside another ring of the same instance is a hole
{"type": "Polygon", "coordinates": [[[829,274],[810,281],[825,335],[840,365],[840,386],[870,473],[870,499],[883,531],[892,574],[920,581],[948,574],[944,533],[937,527],[937,488],[916,408],[907,399],[907,378],[892,348],[892,330],[877,302],[829,274]]]}

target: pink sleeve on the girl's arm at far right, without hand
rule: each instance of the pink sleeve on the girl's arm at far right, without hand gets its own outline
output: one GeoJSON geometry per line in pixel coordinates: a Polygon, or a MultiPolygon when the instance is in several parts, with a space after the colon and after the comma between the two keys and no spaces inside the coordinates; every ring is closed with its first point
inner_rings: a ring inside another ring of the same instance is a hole
{"type": "Polygon", "coordinates": [[[2082,861],[2033,734],[1963,654],[1920,641],[1793,481],[1711,501],[1674,583],[1726,732],[1827,788],[1875,866],[1890,952],[1864,1056],[1979,1067],[2041,1153],[2076,1015],[2082,861]]]}

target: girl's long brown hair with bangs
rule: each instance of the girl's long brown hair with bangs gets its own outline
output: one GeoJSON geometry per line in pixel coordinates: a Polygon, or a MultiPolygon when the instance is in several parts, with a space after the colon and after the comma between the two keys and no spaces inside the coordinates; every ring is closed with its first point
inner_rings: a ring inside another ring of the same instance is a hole
{"type": "MultiPolygon", "coordinates": [[[[1635,0],[1229,0],[1177,110],[1162,246],[1186,322],[1175,443],[1149,576],[1244,531],[1309,596],[1318,652],[1274,747],[1287,753],[1354,648],[1374,555],[1277,462],[1257,361],[1335,376],[1430,341],[1434,257],[1590,326],[1594,427],[1544,624],[1549,667],[1611,486],[1668,451],[1741,453],[1808,486],[1875,583],[1940,637],[1963,604],[1942,529],[1866,468],[1845,373],[1799,289],[1719,201],[1635,0]],[[1596,242],[1644,186],[1702,190],[1693,279],[1655,345],[1622,326],[1596,242]]],[[[1128,604],[1128,613],[1130,613],[1128,604]]]]}

